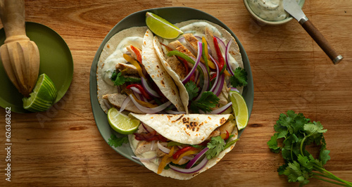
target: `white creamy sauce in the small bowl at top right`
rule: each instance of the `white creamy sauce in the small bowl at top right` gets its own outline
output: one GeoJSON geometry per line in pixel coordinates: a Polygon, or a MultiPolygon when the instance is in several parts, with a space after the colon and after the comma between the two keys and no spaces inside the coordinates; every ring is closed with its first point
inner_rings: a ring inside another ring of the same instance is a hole
{"type": "Polygon", "coordinates": [[[279,21],[289,17],[289,13],[284,11],[283,0],[248,0],[248,4],[263,20],[279,21]]]}

